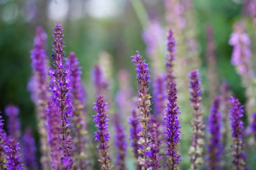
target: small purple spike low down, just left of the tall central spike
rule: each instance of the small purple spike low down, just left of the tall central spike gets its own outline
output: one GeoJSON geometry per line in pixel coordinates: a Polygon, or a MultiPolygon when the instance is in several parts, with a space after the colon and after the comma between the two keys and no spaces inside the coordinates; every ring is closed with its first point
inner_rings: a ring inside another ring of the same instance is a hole
{"type": "MultiPolygon", "coordinates": [[[[139,118],[137,118],[136,111],[133,110],[131,112],[131,116],[129,118],[129,124],[131,124],[130,128],[130,140],[131,140],[131,147],[133,148],[133,156],[135,159],[139,159],[139,148],[140,145],[138,144],[139,141],[139,132],[141,128],[139,126],[139,118]]],[[[140,170],[141,166],[137,163],[137,170],[140,170]]]]}

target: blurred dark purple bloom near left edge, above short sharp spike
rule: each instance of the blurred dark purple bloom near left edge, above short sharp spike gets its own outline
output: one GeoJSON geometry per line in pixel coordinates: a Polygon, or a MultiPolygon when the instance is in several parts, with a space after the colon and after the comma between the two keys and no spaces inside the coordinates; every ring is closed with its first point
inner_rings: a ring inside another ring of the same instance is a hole
{"type": "Polygon", "coordinates": [[[9,133],[9,138],[13,138],[15,140],[20,140],[21,132],[20,132],[20,120],[18,118],[20,110],[15,105],[7,105],[5,108],[5,114],[8,116],[8,124],[7,129],[9,133]]]}

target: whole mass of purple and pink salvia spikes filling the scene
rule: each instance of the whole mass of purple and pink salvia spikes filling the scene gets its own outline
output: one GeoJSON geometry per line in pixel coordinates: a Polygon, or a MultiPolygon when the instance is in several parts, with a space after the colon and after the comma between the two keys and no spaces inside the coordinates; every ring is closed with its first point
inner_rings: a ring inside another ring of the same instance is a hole
{"type": "Polygon", "coordinates": [[[106,59],[108,54],[101,54],[104,59],[92,68],[94,92],[86,93],[90,84],[84,85],[82,78],[87,74],[82,74],[79,55],[66,52],[63,26],[53,28],[51,57],[47,35],[38,27],[30,53],[28,89],[36,108],[39,138],[34,136],[34,128],[20,122],[22,108],[7,105],[0,112],[0,170],[247,169],[247,144],[255,146],[256,141],[256,111],[251,93],[255,83],[251,41],[245,26],[235,24],[229,41],[231,63],[247,91],[244,110],[231,97],[230,85],[225,81],[219,85],[217,73],[211,73],[218,69],[214,30],[207,28],[206,52],[208,64],[214,65],[208,74],[200,73],[210,80],[207,98],[197,69],[193,5],[190,0],[171,0],[166,1],[166,9],[173,25],[166,36],[166,57],[158,60],[164,54],[160,37],[164,29],[158,22],[150,22],[143,38],[154,63],[151,67],[139,52],[132,56],[135,76],[127,70],[117,72],[117,93],[110,90],[115,87],[115,74],[108,68],[112,65],[106,59]],[[189,34],[187,28],[191,28],[189,34]],[[104,65],[104,61],[108,63],[104,65]],[[131,80],[137,81],[135,92],[131,80]],[[90,99],[95,103],[88,102],[90,99]],[[210,110],[203,107],[207,101],[212,101],[210,110]],[[248,136],[254,138],[247,140],[248,136]]]}

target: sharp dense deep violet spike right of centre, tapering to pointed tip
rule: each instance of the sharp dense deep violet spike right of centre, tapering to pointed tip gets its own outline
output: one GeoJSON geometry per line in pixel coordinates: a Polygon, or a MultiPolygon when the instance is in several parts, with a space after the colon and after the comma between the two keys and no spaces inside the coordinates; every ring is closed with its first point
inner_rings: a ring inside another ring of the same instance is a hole
{"type": "Polygon", "coordinates": [[[172,81],[168,89],[168,104],[166,108],[164,138],[166,140],[165,153],[167,156],[166,167],[168,169],[179,169],[181,153],[178,146],[181,142],[181,126],[179,122],[179,107],[177,106],[176,83],[172,81]]]}

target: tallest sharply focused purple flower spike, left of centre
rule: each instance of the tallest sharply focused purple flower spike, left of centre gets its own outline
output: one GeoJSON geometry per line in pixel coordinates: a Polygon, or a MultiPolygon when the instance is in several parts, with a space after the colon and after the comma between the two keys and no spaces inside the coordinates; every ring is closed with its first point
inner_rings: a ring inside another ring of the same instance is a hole
{"type": "Polygon", "coordinates": [[[70,129],[70,117],[73,117],[73,109],[71,105],[71,96],[69,93],[70,81],[69,81],[69,66],[65,65],[64,42],[62,33],[63,28],[61,24],[55,25],[55,33],[53,34],[53,65],[55,69],[50,68],[49,75],[51,75],[51,85],[49,85],[49,91],[51,92],[51,99],[53,105],[57,107],[59,113],[59,119],[61,120],[61,161],[65,169],[71,169],[73,165],[73,140],[69,134],[70,129]]]}

